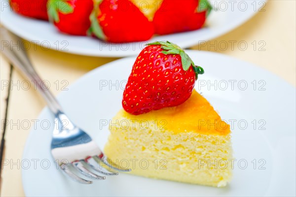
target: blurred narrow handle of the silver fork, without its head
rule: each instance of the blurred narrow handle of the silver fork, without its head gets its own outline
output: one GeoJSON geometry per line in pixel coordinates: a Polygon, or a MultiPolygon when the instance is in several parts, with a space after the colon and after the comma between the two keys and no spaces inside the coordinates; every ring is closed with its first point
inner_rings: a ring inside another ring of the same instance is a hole
{"type": "Polygon", "coordinates": [[[31,82],[35,82],[37,90],[45,99],[48,108],[55,115],[62,113],[62,108],[54,95],[49,91],[48,87],[42,82],[42,79],[39,77],[37,72],[29,60],[26,51],[21,47],[22,39],[16,35],[12,35],[8,30],[1,28],[1,43],[6,42],[6,45],[2,45],[2,53],[6,56],[7,59],[12,63],[12,65],[19,69],[23,74],[25,74],[31,82]],[[12,43],[17,43],[16,45],[11,46],[12,43]]]}

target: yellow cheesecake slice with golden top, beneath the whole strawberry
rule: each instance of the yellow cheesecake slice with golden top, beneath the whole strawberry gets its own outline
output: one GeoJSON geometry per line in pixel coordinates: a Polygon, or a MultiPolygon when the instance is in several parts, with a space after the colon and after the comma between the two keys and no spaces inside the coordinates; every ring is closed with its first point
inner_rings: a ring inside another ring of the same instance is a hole
{"type": "Polygon", "coordinates": [[[224,187],[231,179],[229,125],[193,90],[183,104],[141,115],[120,110],[105,154],[132,174],[224,187]]]}

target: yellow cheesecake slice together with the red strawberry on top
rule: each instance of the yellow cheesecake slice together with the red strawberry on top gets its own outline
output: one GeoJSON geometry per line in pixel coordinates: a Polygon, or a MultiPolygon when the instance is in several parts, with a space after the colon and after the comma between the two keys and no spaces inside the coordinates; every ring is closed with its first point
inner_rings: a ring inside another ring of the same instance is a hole
{"type": "Polygon", "coordinates": [[[226,186],[232,168],[230,129],[193,89],[203,73],[176,44],[148,44],[133,65],[123,109],[112,119],[105,146],[111,162],[130,161],[135,175],[226,186]],[[137,161],[140,165],[132,165],[137,161]]]}

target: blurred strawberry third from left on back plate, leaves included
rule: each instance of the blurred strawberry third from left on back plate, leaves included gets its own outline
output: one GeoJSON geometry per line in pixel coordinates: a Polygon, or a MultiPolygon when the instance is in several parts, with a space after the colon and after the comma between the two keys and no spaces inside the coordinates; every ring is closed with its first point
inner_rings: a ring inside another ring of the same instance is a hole
{"type": "Polygon", "coordinates": [[[153,23],[129,0],[102,0],[91,17],[92,33],[110,42],[148,40],[153,23]]]}

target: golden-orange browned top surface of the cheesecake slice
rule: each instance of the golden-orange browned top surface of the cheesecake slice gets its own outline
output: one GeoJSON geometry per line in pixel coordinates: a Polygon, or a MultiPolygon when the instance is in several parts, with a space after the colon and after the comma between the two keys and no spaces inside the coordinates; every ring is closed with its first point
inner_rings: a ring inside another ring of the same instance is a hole
{"type": "MultiPolygon", "coordinates": [[[[201,134],[227,135],[229,125],[221,120],[211,104],[199,93],[193,90],[185,103],[176,106],[151,111],[142,115],[130,115],[121,110],[115,118],[131,120],[148,120],[157,122],[158,129],[173,132],[198,132],[201,134]]],[[[142,121],[144,122],[144,121],[142,121]]]]}

